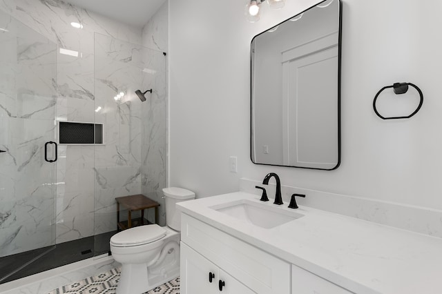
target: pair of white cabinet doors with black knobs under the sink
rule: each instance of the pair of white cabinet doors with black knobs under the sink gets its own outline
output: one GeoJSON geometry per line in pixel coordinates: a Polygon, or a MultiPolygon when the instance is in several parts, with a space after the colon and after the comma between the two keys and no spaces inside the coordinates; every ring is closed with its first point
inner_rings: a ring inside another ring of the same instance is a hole
{"type": "Polygon", "coordinates": [[[184,243],[181,243],[181,267],[180,293],[254,293],[184,243]]]}

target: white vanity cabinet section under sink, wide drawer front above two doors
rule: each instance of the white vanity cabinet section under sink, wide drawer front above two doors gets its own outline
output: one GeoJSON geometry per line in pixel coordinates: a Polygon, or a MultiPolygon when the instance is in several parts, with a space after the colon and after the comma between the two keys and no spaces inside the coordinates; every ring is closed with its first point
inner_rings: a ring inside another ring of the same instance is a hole
{"type": "Polygon", "coordinates": [[[282,259],[185,213],[181,239],[181,293],[291,293],[291,264],[282,259]],[[225,282],[221,292],[219,280],[225,282]]]}

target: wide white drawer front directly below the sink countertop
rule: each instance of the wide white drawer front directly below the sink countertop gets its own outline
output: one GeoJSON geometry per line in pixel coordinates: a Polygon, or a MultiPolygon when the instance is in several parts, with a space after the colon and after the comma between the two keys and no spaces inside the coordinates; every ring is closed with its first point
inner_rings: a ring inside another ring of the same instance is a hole
{"type": "Polygon", "coordinates": [[[189,215],[181,239],[256,293],[290,293],[290,264],[189,215]]]}

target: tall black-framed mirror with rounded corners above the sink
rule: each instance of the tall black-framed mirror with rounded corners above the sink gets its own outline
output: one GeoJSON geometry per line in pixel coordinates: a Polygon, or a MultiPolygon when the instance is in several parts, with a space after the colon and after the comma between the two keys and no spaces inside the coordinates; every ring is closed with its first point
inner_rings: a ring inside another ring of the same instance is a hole
{"type": "Polygon", "coordinates": [[[340,0],[326,0],[251,41],[251,160],[340,164],[340,0]]]}

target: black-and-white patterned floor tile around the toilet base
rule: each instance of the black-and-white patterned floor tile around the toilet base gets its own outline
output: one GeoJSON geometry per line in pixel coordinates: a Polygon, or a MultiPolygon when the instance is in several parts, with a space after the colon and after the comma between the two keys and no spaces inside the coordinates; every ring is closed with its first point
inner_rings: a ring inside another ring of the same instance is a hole
{"type": "MultiPolygon", "coordinates": [[[[119,275],[119,268],[113,268],[111,271],[62,286],[50,291],[48,294],[115,294],[119,275]]],[[[144,294],[180,294],[180,277],[157,286],[144,294]]]]}

